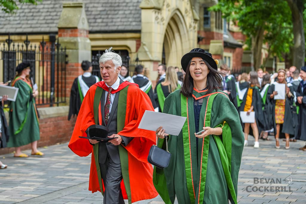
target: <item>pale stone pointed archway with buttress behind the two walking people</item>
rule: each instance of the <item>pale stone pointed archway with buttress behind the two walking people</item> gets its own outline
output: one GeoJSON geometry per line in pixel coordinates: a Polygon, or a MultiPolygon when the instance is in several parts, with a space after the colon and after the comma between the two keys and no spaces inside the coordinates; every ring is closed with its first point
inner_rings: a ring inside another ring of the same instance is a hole
{"type": "Polygon", "coordinates": [[[191,0],[143,0],[141,8],[141,46],[139,59],[157,77],[163,50],[167,66],[181,66],[181,57],[197,44],[199,16],[191,0]]]}

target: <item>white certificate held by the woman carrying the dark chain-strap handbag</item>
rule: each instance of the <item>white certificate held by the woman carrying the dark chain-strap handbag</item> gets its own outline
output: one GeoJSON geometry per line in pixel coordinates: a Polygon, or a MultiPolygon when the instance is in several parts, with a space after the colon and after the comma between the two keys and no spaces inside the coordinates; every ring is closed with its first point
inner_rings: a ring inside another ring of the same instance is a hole
{"type": "Polygon", "coordinates": [[[159,113],[155,111],[144,111],[138,128],[156,131],[160,126],[165,133],[178,135],[186,121],[186,117],[159,113]]]}

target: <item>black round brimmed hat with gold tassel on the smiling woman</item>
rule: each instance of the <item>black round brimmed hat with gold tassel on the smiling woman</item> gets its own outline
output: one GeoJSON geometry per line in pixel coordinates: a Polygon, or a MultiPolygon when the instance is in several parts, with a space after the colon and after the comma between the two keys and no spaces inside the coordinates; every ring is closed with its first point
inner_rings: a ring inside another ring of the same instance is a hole
{"type": "Polygon", "coordinates": [[[218,60],[214,60],[212,58],[211,53],[206,52],[205,50],[201,48],[194,48],[189,53],[186,53],[181,59],[181,65],[185,72],[186,72],[189,61],[193,57],[201,57],[203,60],[207,61],[212,68],[214,68],[215,70],[218,70],[218,66],[217,66],[218,60]]]}

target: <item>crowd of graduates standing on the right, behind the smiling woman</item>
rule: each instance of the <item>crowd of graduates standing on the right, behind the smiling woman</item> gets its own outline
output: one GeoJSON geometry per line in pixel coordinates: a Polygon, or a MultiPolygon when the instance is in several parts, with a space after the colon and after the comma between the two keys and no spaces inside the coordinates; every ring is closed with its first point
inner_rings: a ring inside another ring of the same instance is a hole
{"type": "MultiPolygon", "coordinates": [[[[255,137],[254,148],[259,148],[259,139],[275,137],[275,148],[279,149],[279,138],[285,138],[285,149],[289,141],[306,140],[306,67],[300,70],[292,66],[288,70],[279,69],[270,74],[262,69],[231,75],[226,65],[221,66],[223,91],[229,95],[238,112],[255,112],[254,123],[243,123],[244,146],[248,145],[248,134],[255,137]],[[280,93],[278,84],[285,84],[285,98],[274,99],[280,93]]],[[[306,151],[306,146],[300,148],[306,151]]]]}

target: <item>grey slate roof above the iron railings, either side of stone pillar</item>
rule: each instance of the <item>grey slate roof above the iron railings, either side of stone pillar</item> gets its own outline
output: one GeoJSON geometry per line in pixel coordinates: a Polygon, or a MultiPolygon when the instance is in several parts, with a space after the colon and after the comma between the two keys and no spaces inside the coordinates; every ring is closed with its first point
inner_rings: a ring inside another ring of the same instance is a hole
{"type": "MultiPolygon", "coordinates": [[[[89,32],[140,32],[142,0],[83,0],[89,32]]],[[[18,2],[18,1],[17,1],[18,2]]],[[[0,11],[0,35],[8,33],[57,33],[63,2],[43,0],[38,5],[22,4],[16,14],[0,11]]]]}

